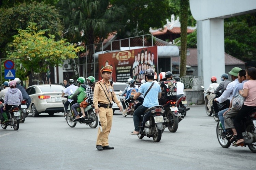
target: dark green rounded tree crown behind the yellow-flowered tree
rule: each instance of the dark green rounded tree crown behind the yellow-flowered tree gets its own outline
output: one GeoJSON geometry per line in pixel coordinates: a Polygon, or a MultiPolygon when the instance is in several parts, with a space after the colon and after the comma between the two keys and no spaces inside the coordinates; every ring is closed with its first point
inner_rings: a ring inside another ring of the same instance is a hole
{"type": "Polygon", "coordinates": [[[55,35],[55,39],[61,38],[63,26],[57,10],[44,3],[22,3],[11,8],[0,8],[0,56],[5,57],[8,43],[13,40],[17,29],[25,30],[29,22],[37,23],[38,29],[48,29],[48,34],[55,35]]]}

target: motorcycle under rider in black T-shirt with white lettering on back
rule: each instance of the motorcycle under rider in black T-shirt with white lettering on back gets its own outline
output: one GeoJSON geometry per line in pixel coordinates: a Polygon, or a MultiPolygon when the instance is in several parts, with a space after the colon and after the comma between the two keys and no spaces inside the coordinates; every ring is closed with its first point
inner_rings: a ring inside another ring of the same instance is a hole
{"type": "Polygon", "coordinates": [[[163,105],[165,112],[163,114],[163,125],[167,126],[170,132],[176,132],[179,126],[179,122],[184,119],[184,115],[180,114],[182,108],[176,107],[176,100],[170,100],[163,105]]]}

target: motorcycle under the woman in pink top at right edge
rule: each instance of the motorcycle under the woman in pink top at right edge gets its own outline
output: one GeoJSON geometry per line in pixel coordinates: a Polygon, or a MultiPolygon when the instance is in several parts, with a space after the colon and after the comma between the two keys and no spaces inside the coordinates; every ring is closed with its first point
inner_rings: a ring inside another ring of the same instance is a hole
{"type": "MultiPolygon", "coordinates": [[[[250,114],[242,120],[242,127],[243,127],[242,136],[244,139],[244,144],[241,146],[244,146],[244,147],[248,146],[248,148],[252,152],[256,153],[256,109],[253,109],[250,112],[250,114]]],[[[224,131],[220,121],[217,123],[216,133],[217,133],[219,144],[223,148],[229,148],[231,143],[235,142],[235,140],[230,141],[230,138],[228,139],[221,138],[224,131]]]]}

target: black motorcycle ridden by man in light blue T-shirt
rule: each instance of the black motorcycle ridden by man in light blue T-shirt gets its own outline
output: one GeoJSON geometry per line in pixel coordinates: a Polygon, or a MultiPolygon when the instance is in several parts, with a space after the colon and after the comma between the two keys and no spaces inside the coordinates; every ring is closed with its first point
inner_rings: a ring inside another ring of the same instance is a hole
{"type": "Polygon", "coordinates": [[[163,106],[154,106],[148,108],[140,118],[141,130],[138,134],[139,139],[144,136],[148,138],[153,137],[154,142],[159,142],[162,137],[162,132],[165,130],[163,125],[163,106]]]}

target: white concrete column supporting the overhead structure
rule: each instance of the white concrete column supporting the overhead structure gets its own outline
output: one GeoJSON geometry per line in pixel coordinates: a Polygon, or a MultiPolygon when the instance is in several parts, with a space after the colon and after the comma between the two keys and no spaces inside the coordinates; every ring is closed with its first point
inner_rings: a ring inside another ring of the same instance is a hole
{"type": "Polygon", "coordinates": [[[198,76],[203,76],[205,88],[211,84],[211,77],[225,73],[224,19],[197,21],[197,63],[198,76]]]}

